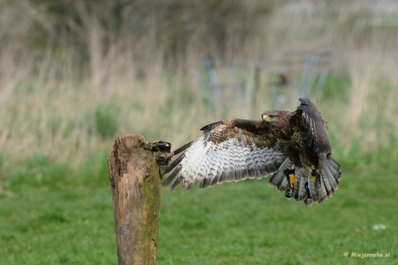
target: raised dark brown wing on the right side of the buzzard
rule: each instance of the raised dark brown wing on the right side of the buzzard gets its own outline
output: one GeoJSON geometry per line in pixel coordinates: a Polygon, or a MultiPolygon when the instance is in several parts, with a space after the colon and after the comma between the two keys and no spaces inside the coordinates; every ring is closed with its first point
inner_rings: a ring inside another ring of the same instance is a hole
{"type": "Polygon", "coordinates": [[[330,154],[331,147],[325,129],[327,123],[320,116],[320,112],[315,105],[305,98],[298,99],[301,101],[296,111],[298,119],[302,120],[304,125],[304,139],[307,140],[308,146],[311,146],[313,141],[314,151],[320,155],[323,153],[330,154]]]}

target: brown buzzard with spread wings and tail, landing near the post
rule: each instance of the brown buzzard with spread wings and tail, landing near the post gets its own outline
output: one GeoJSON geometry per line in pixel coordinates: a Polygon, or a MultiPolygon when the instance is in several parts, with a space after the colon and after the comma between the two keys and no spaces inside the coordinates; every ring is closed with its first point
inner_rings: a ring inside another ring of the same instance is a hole
{"type": "Polygon", "coordinates": [[[174,191],[183,181],[190,191],[223,182],[261,179],[285,192],[287,199],[321,203],[339,188],[341,168],[331,158],[325,129],[328,121],[308,99],[296,111],[271,110],[262,121],[231,119],[200,129],[203,135],[172,154],[182,153],[166,169],[174,191]]]}

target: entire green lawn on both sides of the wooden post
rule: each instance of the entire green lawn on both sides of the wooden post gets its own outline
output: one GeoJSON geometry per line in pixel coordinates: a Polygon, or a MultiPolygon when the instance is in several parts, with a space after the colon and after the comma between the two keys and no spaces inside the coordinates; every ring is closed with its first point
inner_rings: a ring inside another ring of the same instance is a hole
{"type": "MultiPolygon", "coordinates": [[[[117,264],[106,170],[72,170],[43,157],[24,163],[35,174],[10,175],[0,195],[0,264],[117,264]]],[[[340,189],[309,208],[268,179],[164,189],[158,264],[397,263],[397,167],[341,164],[340,189]],[[386,229],[373,230],[379,223],[386,229]]]]}

